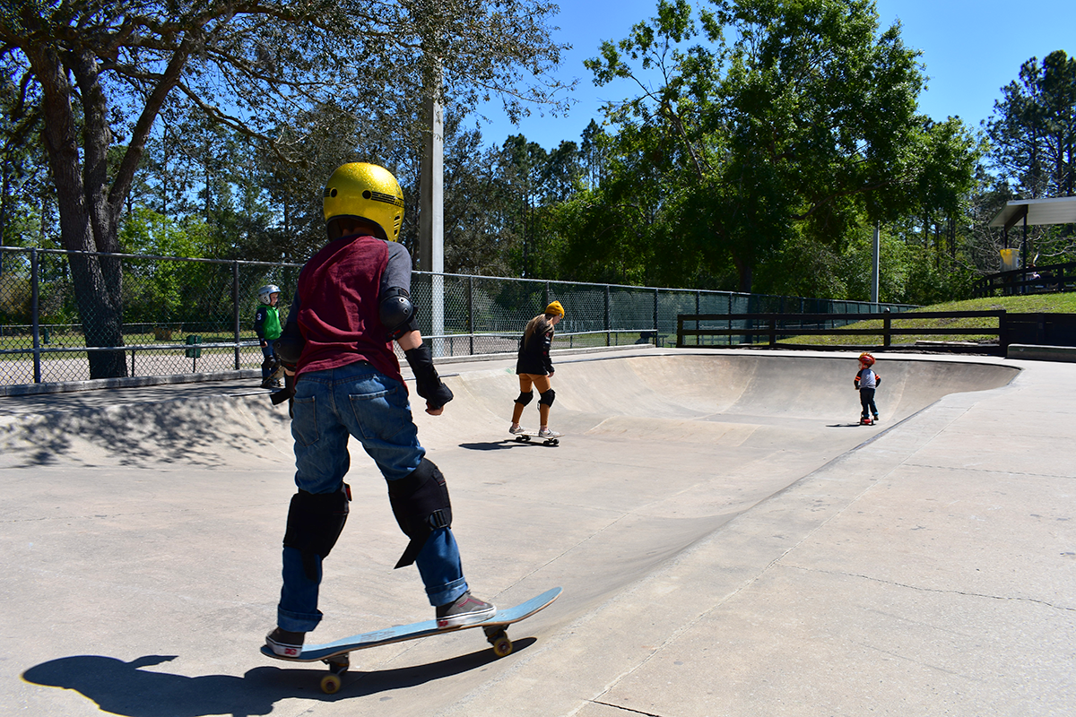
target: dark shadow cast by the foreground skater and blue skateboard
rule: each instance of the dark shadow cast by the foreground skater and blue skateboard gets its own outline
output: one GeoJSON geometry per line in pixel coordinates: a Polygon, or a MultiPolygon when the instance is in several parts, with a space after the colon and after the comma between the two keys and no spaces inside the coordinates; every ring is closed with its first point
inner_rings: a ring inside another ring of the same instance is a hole
{"type": "MultiPolygon", "coordinates": [[[[514,641],[513,653],[537,642],[514,641]]],[[[349,672],[336,694],[322,693],[318,685],[327,674],[320,663],[296,668],[261,666],[243,676],[202,675],[187,677],[143,670],[174,660],[171,655],[146,655],[130,662],[101,655],[77,655],[42,662],[23,673],[23,679],[43,687],[60,687],[82,693],[102,711],[125,717],[249,717],[272,713],[277,702],[310,699],[337,702],[380,692],[414,687],[482,668],[497,657],[482,649],[428,664],[349,672]]]]}

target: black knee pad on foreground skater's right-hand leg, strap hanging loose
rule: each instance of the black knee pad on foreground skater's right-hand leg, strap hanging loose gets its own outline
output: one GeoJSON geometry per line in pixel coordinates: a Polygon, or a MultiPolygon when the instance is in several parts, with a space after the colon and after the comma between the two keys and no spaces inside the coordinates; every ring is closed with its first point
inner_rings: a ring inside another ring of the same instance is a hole
{"type": "Polygon", "coordinates": [[[414,562],[430,533],[452,526],[452,503],[444,476],[426,458],[408,476],[388,482],[388,500],[400,530],[411,539],[396,563],[402,568],[414,562]]]}

